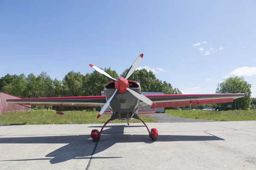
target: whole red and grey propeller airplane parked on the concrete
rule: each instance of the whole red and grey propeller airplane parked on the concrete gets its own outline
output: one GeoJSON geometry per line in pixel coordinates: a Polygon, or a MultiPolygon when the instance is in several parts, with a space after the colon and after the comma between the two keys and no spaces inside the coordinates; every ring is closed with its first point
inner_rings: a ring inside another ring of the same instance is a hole
{"type": "MultiPolygon", "coordinates": [[[[213,103],[233,102],[234,99],[245,96],[245,94],[141,94],[140,83],[127,80],[138,67],[143,54],[131,65],[125,77],[114,79],[105,71],[90,64],[90,67],[111,80],[104,86],[105,96],[76,96],[76,97],[51,97],[51,98],[30,98],[30,99],[8,99],[6,102],[19,105],[52,105],[52,106],[89,106],[102,107],[97,119],[105,113],[109,107],[111,118],[102,126],[101,130],[93,129],[91,138],[93,142],[100,139],[103,128],[111,120],[125,120],[129,123],[131,119],[140,120],[148,130],[149,137],[156,141],[158,131],[156,128],[148,129],[148,126],[139,118],[139,107],[151,106],[151,108],[169,108],[176,106],[191,106],[213,103]]],[[[62,114],[61,112],[57,112],[62,114]]],[[[150,113],[146,112],[146,113],[150,113]]],[[[142,113],[143,114],[143,113],[142,113]]],[[[129,125],[129,124],[128,124],[129,125]]]]}

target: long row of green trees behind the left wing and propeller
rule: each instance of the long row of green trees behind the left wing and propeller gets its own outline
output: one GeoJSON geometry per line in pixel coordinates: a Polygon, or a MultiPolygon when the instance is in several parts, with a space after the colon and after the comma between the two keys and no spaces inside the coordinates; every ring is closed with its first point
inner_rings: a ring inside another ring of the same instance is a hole
{"type": "MultiPolygon", "coordinates": [[[[119,77],[116,71],[111,70],[111,68],[102,70],[113,78],[119,77]]],[[[127,70],[120,74],[120,77],[124,76],[127,70]]],[[[162,80],[156,78],[152,71],[147,71],[146,69],[134,71],[128,80],[139,82],[141,91],[181,94],[178,88],[173,88],[166,81],[162,82],[162,80]]],[[[0,78],[0,91],[21,98],[97,96],[101,95],[101,91],[103,91],[107,82],[110,82],[110,80],[96,71],[85,75],[80,72],[70,71],[62,80],[52,79],[47,72],[41,72],[37,76],[33,73],[28,76],[25,74],[6,74],[6,76],[0,78]]]]}

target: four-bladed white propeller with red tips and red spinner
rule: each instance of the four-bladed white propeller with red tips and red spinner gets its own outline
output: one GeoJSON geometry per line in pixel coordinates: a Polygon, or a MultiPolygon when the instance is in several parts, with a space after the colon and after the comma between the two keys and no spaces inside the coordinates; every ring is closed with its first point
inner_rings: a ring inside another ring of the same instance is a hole
{"type": "Polygon", "coordinates": [[[140,64],[140,60],[143,58],[143,54],[140,54],[140,56],[134,61],[134,63],[131,65],[129,70],[127,71],[125,78],[119,77],[118,79],[114,79],[111,77],[108,73],[103,71],[102,69],[96,67],[95,65],[90,64],[90,67],[93,68],[94,70],[98,71],[100,74],[102,74],[105,77],[108,77],[112,81],[115,82],[115,89],[116,91],[114,94],[108,99],[108,101],[105,103],[105,105],[102,107],[102,110],[99,112],[97,119],[102,115],[102,113],[105,112],[105,110],[108,108],[110,105],[111,101],[113,100],[114,96],[116,95],[116,92],[118,91],[119,93],[125,93],[126,91],[129,91],[132,95],[140,99],[141,101],[147,103],[148,105],[151,106],[151,108],[156,108],[156,104],[152,102],[148,97],[144,96],[143,94],[140,94],[139,92],[135,91],[132,88],[129,88],[129,83],[127,79],[133,74],[133,72],[136,70],[138,65],[140,64]]]}

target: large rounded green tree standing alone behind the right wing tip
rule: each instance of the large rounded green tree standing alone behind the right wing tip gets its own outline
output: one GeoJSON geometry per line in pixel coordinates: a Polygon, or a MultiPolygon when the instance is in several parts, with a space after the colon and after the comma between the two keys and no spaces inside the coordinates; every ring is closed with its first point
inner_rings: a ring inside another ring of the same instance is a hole
{"type": "Polygon", "coordinates": [[[244,93],[244,97],[236,99],[233,101],[233,105],[236,109],[239,107],[244,110],[248,110],[251,104],[251,85],[244,80],[244,77],[229,77],[224,79],[223,82],[218,83],[216,93],[227,94],[227,93],[244,93]]]}

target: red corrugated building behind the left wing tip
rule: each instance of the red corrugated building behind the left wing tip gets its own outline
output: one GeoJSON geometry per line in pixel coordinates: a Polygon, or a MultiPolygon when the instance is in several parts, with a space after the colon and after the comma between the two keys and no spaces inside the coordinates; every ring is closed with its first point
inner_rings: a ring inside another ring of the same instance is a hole
{"type": "MultiPolygon", "coordinates": [[[[26,108],[22,105],[17,105],[16,103],[8,103],[6,99],[21,99],[20,97],[13,96],[4,92],[0,92],[0,114],[9,111],[30,111],[30,108],[26,108]]],[[[30,105],[26,105],[31,107],[30,105]]]]}

